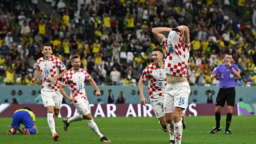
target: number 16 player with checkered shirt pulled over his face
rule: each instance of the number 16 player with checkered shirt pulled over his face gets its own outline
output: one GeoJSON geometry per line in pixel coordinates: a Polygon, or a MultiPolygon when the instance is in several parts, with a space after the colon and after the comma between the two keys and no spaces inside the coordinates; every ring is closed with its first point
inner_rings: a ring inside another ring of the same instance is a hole
{"type": "MultiPolygon", "coordinates": [[[[175,141],[181,143],[182,112],[185,110],[190,94],[187,81],[187,62],[189,58],[189,29],[187,26],[177,28],[153,28],[157,41],[165,47],[165,88],[164,113],[167,123],[174,121],[175,141]],[[169,33],[166,38],[163,33],[169,33]]],[[[171,142],[170,142],[171,143],[171,142]]]]}

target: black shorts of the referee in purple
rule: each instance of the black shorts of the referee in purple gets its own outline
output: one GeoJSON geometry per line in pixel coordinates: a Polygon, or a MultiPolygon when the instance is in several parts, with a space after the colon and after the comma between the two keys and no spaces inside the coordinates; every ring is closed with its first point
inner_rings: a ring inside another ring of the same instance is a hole
{"type": "Polygon", "coordinates": [[[236,90],[234,87],[229,89],[219,89],[218,95],[216,97],[216,106],[225,106],[227,101],[228,106],[234,107],[234,102],[236,100],[236,90]]]}

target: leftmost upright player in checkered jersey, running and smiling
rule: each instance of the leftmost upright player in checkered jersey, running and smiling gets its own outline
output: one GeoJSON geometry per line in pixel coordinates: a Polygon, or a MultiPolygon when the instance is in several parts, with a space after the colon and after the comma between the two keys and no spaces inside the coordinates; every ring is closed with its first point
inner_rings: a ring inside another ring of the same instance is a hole
{"type": "Polygon", "coordinates": [[[37,60],[37,71],[34,78],[30,81],[30,84],[34,84],[35,79],[42,75],[42,90],[41,96],[44,103],[44,107],[47,109],[47,122],[51,132],[53,134],[54,141],[58,141],[59,135],[55,131],[55,115],[59,115],[60,105],[63,96],[59,92],[60,80],[67,72],[66,66],[61,60],[52,55],[53,50],[51,44],[44,44],[42,46],[42,53],[44,57],[37,60]],[[59,71],[62,70],[61,73],[59,71]]]}

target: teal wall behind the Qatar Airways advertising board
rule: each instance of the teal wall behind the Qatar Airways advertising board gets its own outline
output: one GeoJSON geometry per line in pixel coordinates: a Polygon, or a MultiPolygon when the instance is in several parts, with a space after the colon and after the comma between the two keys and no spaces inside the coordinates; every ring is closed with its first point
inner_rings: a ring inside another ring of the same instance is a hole
{"type": "MultiPolygon", "coordinates": [[[[237,86],[236,87],[236,103],[239,98],[243,99],[245,103],[256,103],[255,97],[255,88],[256,86],[246,87],[246,86],[237,86]]],[[[124,97],[126,98],[125,103],[140,103],[140,95],[138,86],[99,86],[101,90],[101,96],[95,96],[95,89],[91,85],[85,85],[85,90],[89,103],[97,103],[97,99],[101,98],[103,103],[108,103],[108,90],[111,89],[114,95],[114,99],[118,98],[118,95],[121,91],[124,92],[124,97]]],[[[217,86],[190,86],[191,94],[188,99],[188,103],[193,103],[193,99],[196,99],[196,103],[206,103],[207,95],[205,91],[211,90],[213,103],[218,93],[219,88],[217,86]]],[[[6,85],[0,86],[0,103],[4,103],[5,99],[8,99],[11,102],[12,98],[16,98],[22,104],[35,104],[35,98],[38,96],[38,91],[41,90],[39,85],[6,85]]],[[[143,87],[143,93],[150,103],[148,97],[148,87],[145,85],[143,87]]],[[[70,94],[68,87],[65,88],[67,94],[70,94]]],[[[68,100],[66,99],[66,102],[68,100]]]]}

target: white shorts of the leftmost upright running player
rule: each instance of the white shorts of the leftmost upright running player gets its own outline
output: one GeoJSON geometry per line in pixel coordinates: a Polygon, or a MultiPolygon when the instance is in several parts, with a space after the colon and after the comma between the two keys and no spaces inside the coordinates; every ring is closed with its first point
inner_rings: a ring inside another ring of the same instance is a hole
{"type": "Polygon", "coordinates": [[[59,91],[41,90],[41,96],[44,103],[44,107],[54,106],[54,108],[60,109],[63,95],[59,91]]]}

